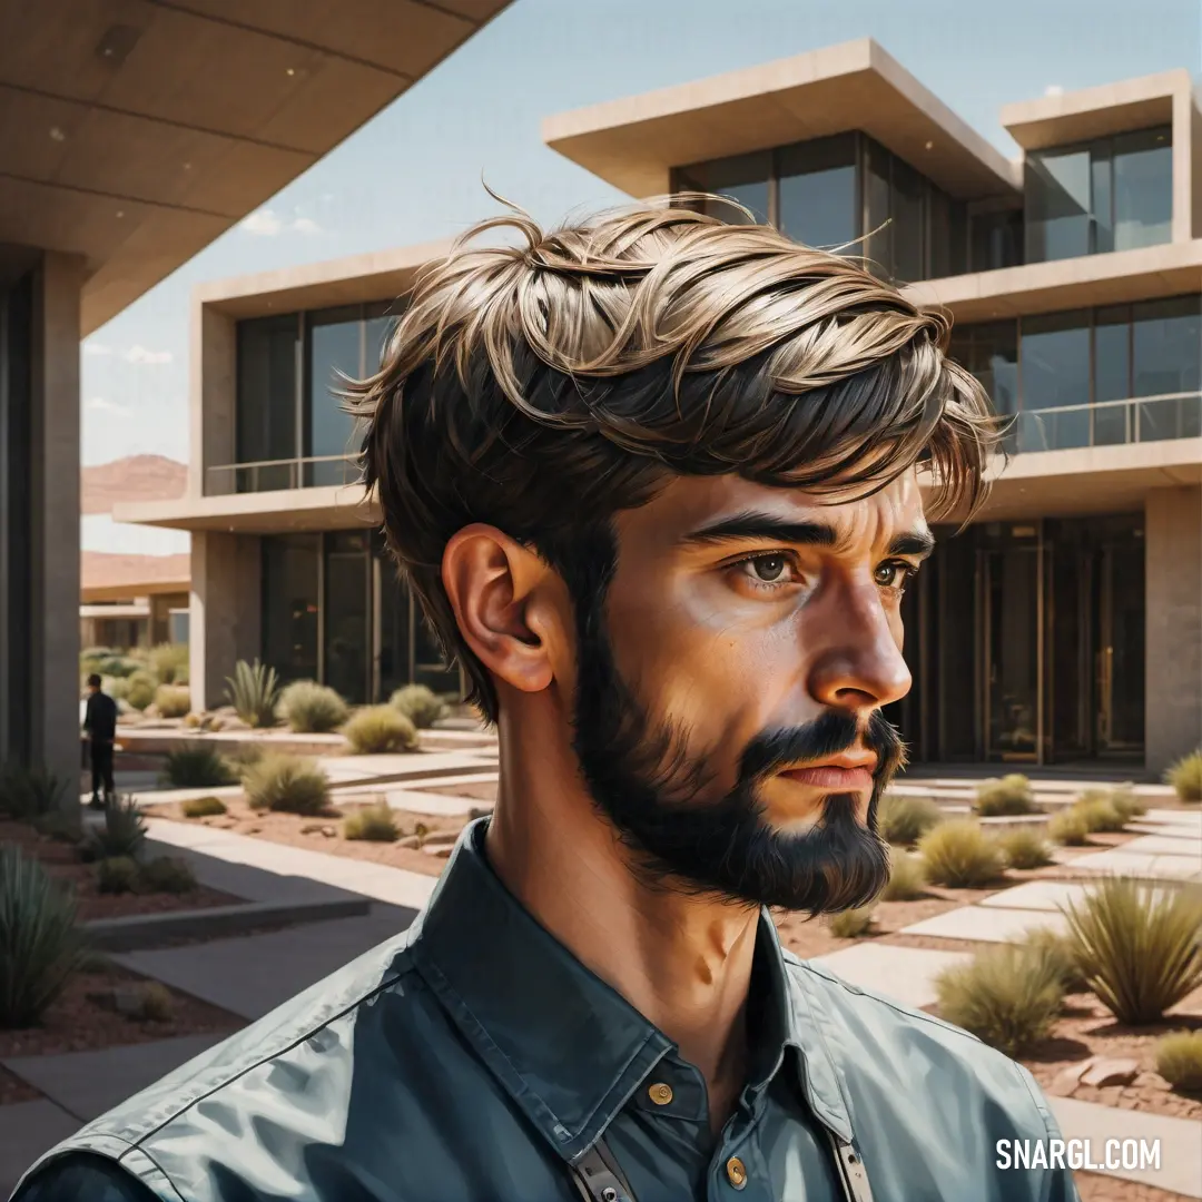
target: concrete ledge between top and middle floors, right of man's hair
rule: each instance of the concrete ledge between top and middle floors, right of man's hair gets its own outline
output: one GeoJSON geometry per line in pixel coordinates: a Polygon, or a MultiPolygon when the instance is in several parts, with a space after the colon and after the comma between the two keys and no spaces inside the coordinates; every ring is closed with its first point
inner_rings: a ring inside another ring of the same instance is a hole
{"type": "Polygon", "coordinates": [[[958,322],[972,322],[1148,300],[1200,288],[1202,238],[927,280],[908,285],[904,292],[917,304],[947,309],[958,322]]]}

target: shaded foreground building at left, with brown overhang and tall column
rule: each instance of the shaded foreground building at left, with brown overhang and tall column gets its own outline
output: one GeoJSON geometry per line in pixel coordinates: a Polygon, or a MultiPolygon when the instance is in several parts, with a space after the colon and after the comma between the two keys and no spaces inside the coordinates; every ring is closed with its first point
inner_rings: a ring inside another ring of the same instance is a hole
{"type": "Polygon", "coordinates": [[[38,0],[0,16],[0,761],[78,766],[79,339],[505,0],[38,0]]]}

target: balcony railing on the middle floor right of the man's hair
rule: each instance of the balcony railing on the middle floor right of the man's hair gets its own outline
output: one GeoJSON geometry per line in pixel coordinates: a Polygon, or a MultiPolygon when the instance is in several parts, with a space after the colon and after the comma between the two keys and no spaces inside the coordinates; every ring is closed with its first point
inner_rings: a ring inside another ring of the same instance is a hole
{"type": "Polygon", "coordinates": [[[1196,438],[1202,438],[1202,392],[1165,392],[1020,410],[1006,434],[1006,447],[1011,452],[1069,451],[1196,438]]]}

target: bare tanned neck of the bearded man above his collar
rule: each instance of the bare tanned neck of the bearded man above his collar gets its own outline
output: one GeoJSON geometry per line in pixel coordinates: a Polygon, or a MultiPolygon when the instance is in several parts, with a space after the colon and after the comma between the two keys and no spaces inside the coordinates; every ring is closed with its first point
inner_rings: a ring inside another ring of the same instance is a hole
{"type": "Polygon", "coordinates": [[[553,755],[543,748],[540,770],[523,772],[523,757],[507,757],[502,739],[489,862],[541,926],[701,1071],[718,1131],[746,1075],[758,915],[642,885],[582,787],[558,784],[575,770],[546,770],[553,755]]]}

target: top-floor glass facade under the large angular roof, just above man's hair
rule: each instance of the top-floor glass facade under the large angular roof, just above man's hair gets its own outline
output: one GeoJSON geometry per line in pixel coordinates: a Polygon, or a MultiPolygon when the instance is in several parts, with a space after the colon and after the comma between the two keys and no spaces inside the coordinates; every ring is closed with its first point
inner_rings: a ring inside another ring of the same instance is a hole
{"type": "MultiPolygon", "coordinates": [[[[730,196],[790,238],[864,255],[886,279],[926,280],[966,266],[965,206],[865,133],[680,167],[672,190],[730,196]]],[[[726,204],[698,203],[738,220],[726,204]]]]}

